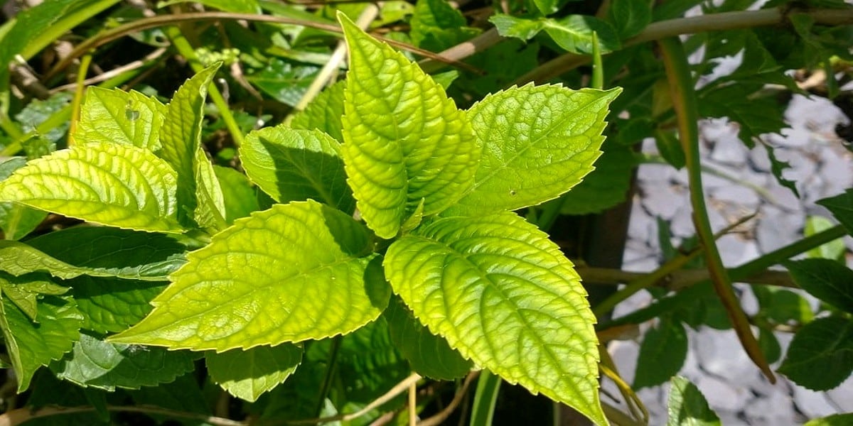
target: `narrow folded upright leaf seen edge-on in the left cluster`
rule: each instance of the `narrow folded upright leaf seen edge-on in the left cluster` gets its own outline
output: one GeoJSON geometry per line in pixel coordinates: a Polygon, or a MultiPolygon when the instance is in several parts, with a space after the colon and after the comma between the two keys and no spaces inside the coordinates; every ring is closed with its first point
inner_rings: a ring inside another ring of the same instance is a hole
{"type": "Polygon", "coordinates": [[[184,227],[194,226],[196,185],[196,159],[201,144],[201,121],[204,118],[207,87],[213,80],[219,64],[206,68],[177,89],[166,106],[163,126],[160,128],[160,158],[177,171],[177,218],[184,227]]]}

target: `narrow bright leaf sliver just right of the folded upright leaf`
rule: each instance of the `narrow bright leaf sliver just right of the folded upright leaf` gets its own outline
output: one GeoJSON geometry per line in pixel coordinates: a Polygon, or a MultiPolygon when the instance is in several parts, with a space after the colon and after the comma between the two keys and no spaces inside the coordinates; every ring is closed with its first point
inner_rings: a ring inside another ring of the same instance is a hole
{"type": "Polygon", "coordinates": [[[195,222],[213,232],[223,230],[228,223],[225,222],[222,187],[213,171],[213,164],[201,147],[195,152],[195,185],[195,199],[198,202],[194,212],[195,222]]]}

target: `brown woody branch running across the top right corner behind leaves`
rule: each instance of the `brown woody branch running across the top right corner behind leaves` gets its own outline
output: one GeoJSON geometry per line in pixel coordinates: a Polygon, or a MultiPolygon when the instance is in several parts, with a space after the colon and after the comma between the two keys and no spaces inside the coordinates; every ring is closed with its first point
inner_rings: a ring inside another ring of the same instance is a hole
{"type": "MultiPolygon", "coordinates": [[[[784,25],[787,23],[788,14],[792,12],[797,11],[783,12],[778,8],[761,9],[662,20],[649,24],[639,35],[625,40],[623,47],[627,48],[635,44],[660,40],[666,37],[676,37],[682,34],[784,25]]],[[[853,24],[853,9],[814,9],[797,13],[811,16],[817,25],[842,26],[853,24]]],[[[543,65],[519,77],[515,80],[514,84],[520,86],[529,82],[546,82],[552,78],[556,78],[563,72],[571,71],[587,62],[589,62],[589,56],[587,55],[561,55],[553,60],[548,60],[543,65]]]]}

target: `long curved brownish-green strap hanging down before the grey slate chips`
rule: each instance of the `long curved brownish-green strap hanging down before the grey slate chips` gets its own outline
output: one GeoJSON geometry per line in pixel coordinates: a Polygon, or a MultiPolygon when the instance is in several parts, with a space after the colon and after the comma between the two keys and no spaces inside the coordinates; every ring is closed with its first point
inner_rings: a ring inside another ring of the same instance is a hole
{"type": "Polygon", "coordinates": [[[684,52],[681,40],[677,37],[664,38],[659,41],[659,45],[667,79],[670,82],[670,95],[678,120],[678,133],[687,160],[693,226],[696,227],[700,244],[705,248],[705,262],[711,273],[711,283],[714,285],[714,291],[717,291],[717,296],[720,297],[722,306],[726,308],[728,320],[731,321],[746,354],[763,371],[770,383],[775,383],[773,371],[770,370],[758,346],[758,341],[752,334],[749,319],[744,314],[738,297],[734,294],[728,271],[722,265],[722,258],[714,241],[714,232],[711,230],[711,222],[708,220],[705,193],[702,189],[702,166],[699,162],[699,111],[687,54],[684,52]]]}

